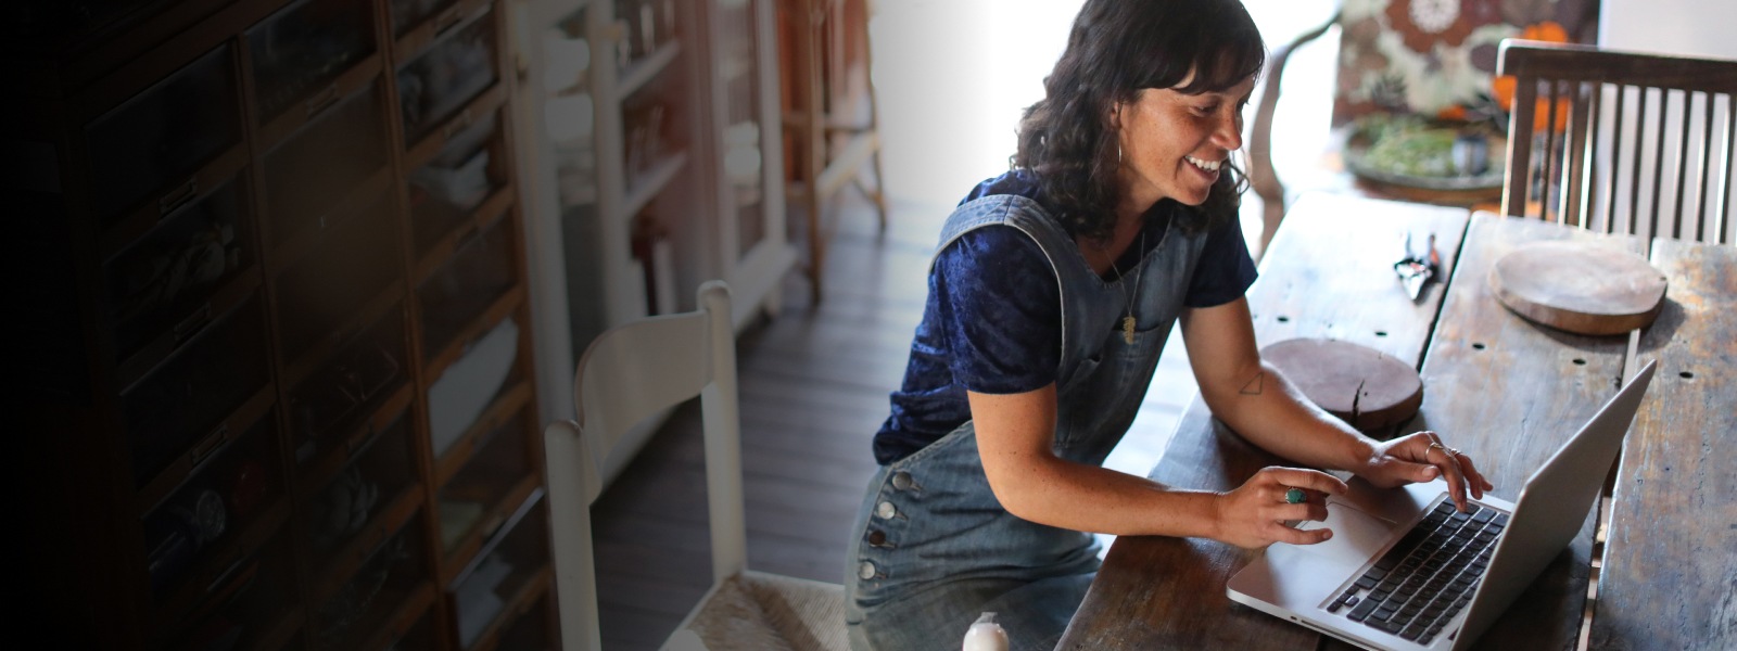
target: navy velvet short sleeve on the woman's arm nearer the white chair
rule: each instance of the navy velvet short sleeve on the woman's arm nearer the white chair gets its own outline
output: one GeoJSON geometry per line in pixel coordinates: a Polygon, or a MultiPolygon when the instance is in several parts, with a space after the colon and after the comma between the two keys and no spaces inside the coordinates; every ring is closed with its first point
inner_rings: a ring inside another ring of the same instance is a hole
{"type": "Polygon", "coordinates": [[[954,380],[981,394],[1016,394],[1056,380],[1061,286],[1025,233],[985,226],[935,259],[941,339],[954,380]]]}

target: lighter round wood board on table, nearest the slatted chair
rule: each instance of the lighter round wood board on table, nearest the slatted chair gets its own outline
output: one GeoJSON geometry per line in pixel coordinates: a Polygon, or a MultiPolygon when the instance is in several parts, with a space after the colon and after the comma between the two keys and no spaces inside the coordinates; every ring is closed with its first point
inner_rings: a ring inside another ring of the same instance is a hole
{"type": "Polygon", "coordinates": [[[1581,335],[1645,328],[1664,306],[1666,278],[1640,255],[1584,241],[1536,241],[1490,267],[1508,309],[1581,335]]]}

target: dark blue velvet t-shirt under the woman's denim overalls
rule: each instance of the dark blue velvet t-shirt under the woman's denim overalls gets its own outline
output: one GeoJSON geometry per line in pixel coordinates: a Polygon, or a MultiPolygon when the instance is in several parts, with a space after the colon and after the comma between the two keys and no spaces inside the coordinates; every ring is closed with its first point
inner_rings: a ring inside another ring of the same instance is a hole
{"type": "MultiPolygon", "coordinates": [[[[1049,208],[1030,172],[988,179],[959,201],[1018,194],[1049,208]]],[[[1164,200],[1146,212],[1145,236],[1115,260],[1133,269],[1164,241],[1179,203],[1164,200]],[[1139,243],[1145,241],[1145,247],[1139,243]]],[[[1200,264],[1183,304],[1232,302],[1254,283],[1254,260],[1235,219],[1207,233],[1200,264]]],[[[910,344],[905,384],[893,392],[893,413],[874,436],[875,460],[896,462],[922,450],[966,420],[966,391],[1018,394],[1056,380],[1061,365],[1061,286],[1037,241],[1009,226],[969,231],[935,257],[929,297],[910,344]]]]}

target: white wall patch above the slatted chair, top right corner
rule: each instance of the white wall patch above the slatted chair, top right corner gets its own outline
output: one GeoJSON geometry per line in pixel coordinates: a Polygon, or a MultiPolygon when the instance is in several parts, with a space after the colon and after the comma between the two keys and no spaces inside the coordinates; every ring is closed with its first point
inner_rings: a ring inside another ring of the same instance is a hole
{"type": "Polygon", "coordinates": [[[1737,2],[1603,0],[1598,45],[1737,59],[1737,2]]]}

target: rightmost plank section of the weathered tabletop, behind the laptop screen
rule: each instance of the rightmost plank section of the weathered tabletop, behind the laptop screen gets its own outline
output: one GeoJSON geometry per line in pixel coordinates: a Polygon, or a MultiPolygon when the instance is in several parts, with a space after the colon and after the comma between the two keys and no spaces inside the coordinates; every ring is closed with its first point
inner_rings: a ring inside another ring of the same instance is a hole
{"type": "Polygon", "coordinates": [[[1737,649],[1737,247],[1657,240],[1671,283],[1640,340],[1657,359],[1622,448],[1595,649],[1737,649]]]}

